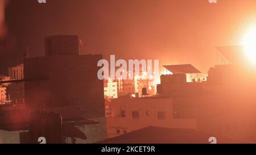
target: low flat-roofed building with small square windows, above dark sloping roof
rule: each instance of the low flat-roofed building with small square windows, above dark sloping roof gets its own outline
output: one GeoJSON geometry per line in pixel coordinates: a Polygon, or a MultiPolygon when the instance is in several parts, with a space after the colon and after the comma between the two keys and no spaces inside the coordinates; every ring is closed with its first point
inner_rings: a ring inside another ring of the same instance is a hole
{"type": "Polygon", "coordinates": [[[144,127],[196,129],[195,119],[174,119],[171,98],[118,98],[112,100],[112,115],[106,118],[108,137],[144,127]]]}

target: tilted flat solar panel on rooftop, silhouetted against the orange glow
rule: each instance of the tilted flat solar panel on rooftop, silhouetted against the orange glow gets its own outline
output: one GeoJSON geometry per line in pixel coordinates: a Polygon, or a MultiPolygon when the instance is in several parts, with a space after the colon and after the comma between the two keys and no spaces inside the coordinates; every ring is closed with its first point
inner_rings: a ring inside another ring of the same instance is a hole
{"type": "Polygon", "coordinates": [[[198,69],[196,69],[191,64],[184,64],[184,65],[165,65],[163,66],[170,72],[174,74],[178,73],[201,73],[198,69]]]}

